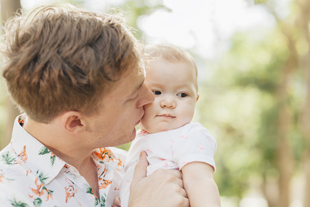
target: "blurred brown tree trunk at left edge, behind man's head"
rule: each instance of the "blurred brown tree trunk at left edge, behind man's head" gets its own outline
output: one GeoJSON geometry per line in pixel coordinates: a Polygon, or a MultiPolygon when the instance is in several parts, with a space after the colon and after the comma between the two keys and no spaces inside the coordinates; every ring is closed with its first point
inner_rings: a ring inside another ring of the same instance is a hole
{"type": "MultiPolygon", "coordinates": [[[[14,16],[14,13],[17,12],[19,8],[21,8],[21,2],[19,0],[1,0],[1,22],[4,23],[9,17],[14,16]]],[[[10,142],[14,119],[19,114],[19,110],[14,107],[9,97],[6,98],[5,106],[8,117],[6,118],[6,124],[1,132],[0,150],[10,142]]]]}

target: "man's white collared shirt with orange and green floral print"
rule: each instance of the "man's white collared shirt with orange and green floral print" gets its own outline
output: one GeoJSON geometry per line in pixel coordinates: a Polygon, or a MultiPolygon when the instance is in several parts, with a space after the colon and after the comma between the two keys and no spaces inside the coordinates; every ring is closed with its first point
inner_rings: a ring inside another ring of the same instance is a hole
{"type": "Polygon", "coordinates": [[[98,148],[92,157],[100,197],[74,166],[23,129],[23,115],[17,117],[12,140],[0,152],[0,206],[113,206],[126,152],[98,148]]]}

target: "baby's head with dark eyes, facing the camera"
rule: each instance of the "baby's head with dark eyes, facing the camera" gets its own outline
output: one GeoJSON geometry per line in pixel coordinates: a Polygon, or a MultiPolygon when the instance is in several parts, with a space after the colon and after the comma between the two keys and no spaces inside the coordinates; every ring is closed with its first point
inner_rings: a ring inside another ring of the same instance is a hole
{"type": "Polygon", "coordinates": [[[139,126],[156,133],[189,124],[199,97],[194,58],[166,43],[146,46],[145,54],[145,83],[154,92],[155,100],[144,106],[139,126]]]}

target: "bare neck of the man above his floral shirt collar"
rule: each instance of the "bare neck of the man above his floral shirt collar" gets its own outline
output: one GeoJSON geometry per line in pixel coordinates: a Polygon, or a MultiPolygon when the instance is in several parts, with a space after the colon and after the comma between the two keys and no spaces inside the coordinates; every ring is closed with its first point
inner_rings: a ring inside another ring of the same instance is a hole
{"type": "Polygon", "coordinates": [[[44,146],[49,148],[57,157],[60,157],[66,163],[74,166],[76,170],[87,180],[88,184],[99,197],[98,176],[96,164],[92,159],[94,149],[85,146],[83,137],[70,135],[57,122],[52,124],[43,124],[32,121],[26,117],[23,128],[39,140],[44,146]]]}

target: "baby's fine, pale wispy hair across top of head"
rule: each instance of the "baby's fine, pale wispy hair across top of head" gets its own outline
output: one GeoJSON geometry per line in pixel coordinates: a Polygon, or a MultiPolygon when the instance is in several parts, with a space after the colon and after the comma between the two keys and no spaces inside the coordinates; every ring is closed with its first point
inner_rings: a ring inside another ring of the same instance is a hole
{"type": "Polygon", "coordinates": [[[145,46],[145,59],[146,62],[157,61],[163,59],[169,63],[185,63],[192,66],[196,77],[196,90],[198,91],[197,76],[198,70],[194,57],[185,50],[172,45],[171,43],[149,43],[145,46]]]}

